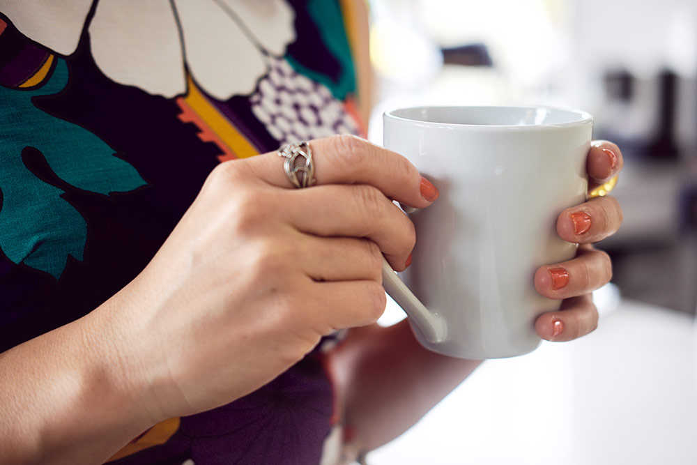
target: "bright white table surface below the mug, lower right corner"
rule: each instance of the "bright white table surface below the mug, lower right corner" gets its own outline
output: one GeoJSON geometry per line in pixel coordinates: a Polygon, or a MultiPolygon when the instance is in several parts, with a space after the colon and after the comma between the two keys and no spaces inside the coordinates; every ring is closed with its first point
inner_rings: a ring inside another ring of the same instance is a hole
{"type": "Polygon", "coordinates": [[[691,315],[620,300],[595,333],[488,360],[367,463],[697,464],[695,351],[691,315]]]}

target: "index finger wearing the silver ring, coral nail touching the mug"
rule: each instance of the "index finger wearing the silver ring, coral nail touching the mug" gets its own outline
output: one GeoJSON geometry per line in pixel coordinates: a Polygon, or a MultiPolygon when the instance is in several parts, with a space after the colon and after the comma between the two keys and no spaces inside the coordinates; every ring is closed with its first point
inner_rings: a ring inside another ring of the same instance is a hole
{"type": "MultiPolygon", "coordinates": [[[[317,184],[368,184],[385,197],[415,208],[425,208],[438,190],[399,153],[353,135],[337,135],[309,142],[317,184]]],[[[281,188],[292,188],[276,152],[245,162],[257,177],[281,188]]]]}

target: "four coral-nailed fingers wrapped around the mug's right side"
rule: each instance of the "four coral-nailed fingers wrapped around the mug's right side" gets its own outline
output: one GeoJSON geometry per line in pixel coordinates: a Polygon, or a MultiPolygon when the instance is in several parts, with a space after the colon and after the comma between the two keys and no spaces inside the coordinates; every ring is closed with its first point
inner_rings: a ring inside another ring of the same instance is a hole
{"type": "Polygon", "coordinates": [[[595,330],[598,312],[592,291],[612,277],[610,257],[594,243],[615,234],[622,223],[620,204],[613,197],[591,197],[590,192],[610,181],[622,169],[622,153],[612,142],[595,141],[588,152],[588,201],[567,208],[557,219],[557,231],[565,241],[579,243],[574,259],[541,266],[535,273],[535,289],[553,299],[564,299],[560,310],[535,321],[543,339],[569,341],[595,330]]]}

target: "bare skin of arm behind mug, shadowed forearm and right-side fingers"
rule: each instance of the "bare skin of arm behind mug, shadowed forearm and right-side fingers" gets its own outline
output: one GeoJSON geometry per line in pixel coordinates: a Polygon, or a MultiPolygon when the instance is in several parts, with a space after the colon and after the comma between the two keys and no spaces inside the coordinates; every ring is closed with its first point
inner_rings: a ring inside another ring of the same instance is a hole
{"type": "MultiPolygon", "coordinates": [[[[594,142],[588,153],[587,169],[590,192],[622,169],[619,148],[611,142],[594,142]],[[604,148],[615,153],[614,163],[604,148]]],[[[576,258],[542,266],[535,273],[535,289],[540,294],[565,299],[558,312],[542,314],[535,321],[540,337],[569,341],[595,330],[598,313],[590,293],[611,279],[612,268],[607,254],[595,250],[592,243],[615,233],[621,222],[622,211],[613,197],[589,199],[560,213],[558,234],[581,245],[576,258]],[[569,216],[577,211],[584,211],[592,218],[585,234],[575,233],[569,216]],[[569,273],[569,282],[555,290],[548,270],[560,267],[569,273]],[[555,337],[552,336],[554,321],[561,321],[563,326],[555,337]]],[[[406,320],[390,328],[372,325],[353,330],[333,354],[332,362],[339,381],[338,393],[345,406],[348,438],[355,450],[364,451],[405,432],[482,363],[424,349],[415,341],[406,320]]]]}

